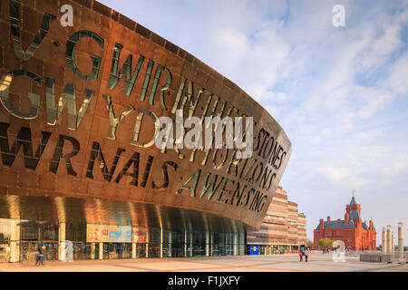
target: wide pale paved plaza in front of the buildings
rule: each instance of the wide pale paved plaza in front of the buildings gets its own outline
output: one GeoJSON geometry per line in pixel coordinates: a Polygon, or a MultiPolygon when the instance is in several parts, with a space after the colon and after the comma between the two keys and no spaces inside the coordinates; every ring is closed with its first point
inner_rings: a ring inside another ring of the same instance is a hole
{"type": "Polygon", "coordinates": [[[358,257],[345,257],[335,262],[332,256],[312,255],[307,263],[297,255],[282,256],[212,256],[189,258],[141,258],[137,260],[85,260],[73,262],[47,261],[2,263],[0,272],[355,272],[408,271],[408,264],[360,262],[358,257]]]}

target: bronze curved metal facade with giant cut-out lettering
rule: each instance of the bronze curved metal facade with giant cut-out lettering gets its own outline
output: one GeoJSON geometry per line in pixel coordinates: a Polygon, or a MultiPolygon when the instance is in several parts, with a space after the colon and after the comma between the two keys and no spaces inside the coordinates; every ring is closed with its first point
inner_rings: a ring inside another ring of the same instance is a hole
{"type": "Polygon", "coordinates": [[[96,1],[65,2],[73,26],[58,1],[1,2],[0,218],[259,227],[291,152],[277,121],[141,24],[96,1]],[[176,110],[253,117],[252,157],[158,149],[154,121],[176,110]]]}

